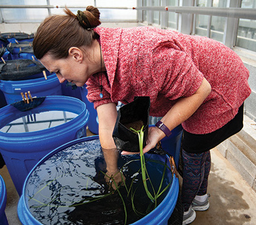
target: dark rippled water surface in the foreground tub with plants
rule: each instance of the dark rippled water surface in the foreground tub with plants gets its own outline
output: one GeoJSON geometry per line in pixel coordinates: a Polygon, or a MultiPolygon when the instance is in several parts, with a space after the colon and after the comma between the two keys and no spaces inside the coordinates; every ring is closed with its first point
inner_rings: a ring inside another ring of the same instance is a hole
{"type": "MultiPolygon", "coordinates": [[[[154,160],[164,156],[146,155],[149,176],[157,190],[164,163],[154,160]]],[[[125,211],[127,224],[133,223],[152,211],[154,204],[147,197],[138,173],[138,155],[120,155],[119,167],[126,177],[127,189],[122,186],[110,191],[104,179],[106,166],[99,140],[75,144],[31,173],[25,187],[27,207],[43,224],[125,224],[125,211]]],[[[164,187],[172,179],[168,174],[164,187]]],[[[164,197],[161,195],[157,204],[164,197]]]]}

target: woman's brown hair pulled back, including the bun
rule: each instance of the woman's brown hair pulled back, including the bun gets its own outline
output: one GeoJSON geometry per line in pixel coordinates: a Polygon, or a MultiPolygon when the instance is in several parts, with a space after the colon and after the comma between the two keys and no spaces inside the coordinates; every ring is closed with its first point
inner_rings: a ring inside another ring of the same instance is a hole
{"type": "Polygon", "coordinates": [[[68,57],[71,47],[91,46],[92,40],[98,38],[92,28],[101,24],[100,12],[88,6],[86,11],[75,15],[68,8],[66,15],[47,17],[37,29],[33,40],[34,55],[41,59],[46,53],[57,59],[68,57]]]}

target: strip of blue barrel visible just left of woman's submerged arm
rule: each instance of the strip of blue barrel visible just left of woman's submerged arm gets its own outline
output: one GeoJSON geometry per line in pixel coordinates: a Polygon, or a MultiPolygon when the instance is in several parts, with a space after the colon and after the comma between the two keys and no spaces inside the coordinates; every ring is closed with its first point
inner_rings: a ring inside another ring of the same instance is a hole
{"type": "Polygon", "coordinates": [[[92,102],[89,102],[87,99],[87,85],[84,85],[82,88],[80,88],[81,91],[81,97],[82,101],[85,102],[87,105],[87,108],[89,110],[89,122],[88,122],[88,129],[94,134],[98,134],[98,114],[97,110],[94,108],[94,104],[92,102]]]}

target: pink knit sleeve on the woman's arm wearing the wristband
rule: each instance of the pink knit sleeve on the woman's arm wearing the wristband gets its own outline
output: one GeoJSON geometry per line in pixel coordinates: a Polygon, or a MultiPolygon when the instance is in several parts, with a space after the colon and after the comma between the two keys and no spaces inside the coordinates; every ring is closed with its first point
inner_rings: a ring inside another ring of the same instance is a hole
{"type": "Polygon", "coordinates": [[[158,91],[169,100],[193,95],[203,81],[190,56],[165,45],[153,52],[152,76],[158,91]]]}

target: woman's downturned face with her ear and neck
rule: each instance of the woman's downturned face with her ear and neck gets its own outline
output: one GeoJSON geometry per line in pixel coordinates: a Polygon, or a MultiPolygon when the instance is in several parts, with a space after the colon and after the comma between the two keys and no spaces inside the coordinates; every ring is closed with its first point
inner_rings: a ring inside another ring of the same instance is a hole
{"type": "MultiPolygon", "coordinates": [[[[100,54],[100,49],[97,52],[100,54]]],[[[83,86],[91,75],[100,72],[98,54],[91,54],[93,58],[89,60],[80,49],[74,47],[69,49],[69,56],[66,59],[55,59],[47,53],[40,59],[40,62],[47,70],[56,73],[60,83],[68,81],[76,86],[83,86]]]]}

